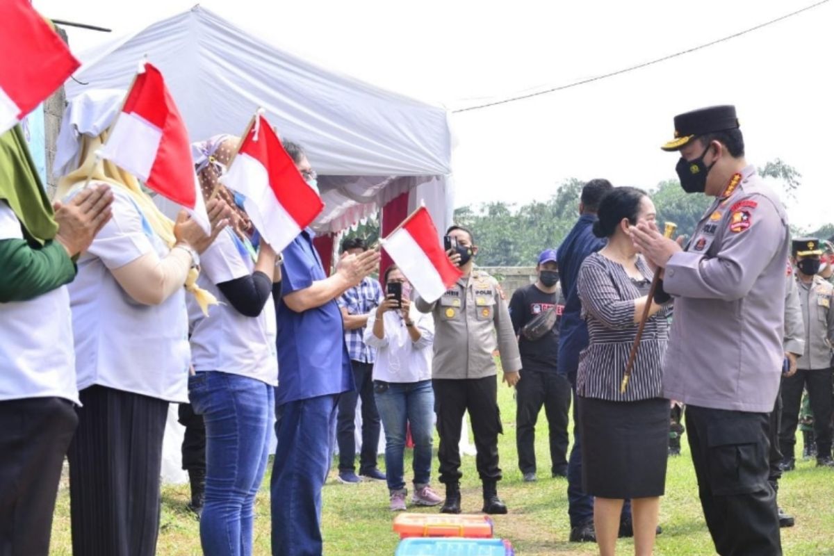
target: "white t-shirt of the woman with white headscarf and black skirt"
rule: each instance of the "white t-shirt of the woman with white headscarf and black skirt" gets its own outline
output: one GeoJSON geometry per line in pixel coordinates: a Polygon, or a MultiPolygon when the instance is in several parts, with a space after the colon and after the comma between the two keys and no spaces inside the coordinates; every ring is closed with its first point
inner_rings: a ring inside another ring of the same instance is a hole
{"type": "Polygon", "coordinates": [[[169,249],[130,194],[112,189],[113,218],[78,259],[78,276],[69,285],[78,389],[100,384],[186,403],[190,350],[185,288],[159,305],[143,305],[118,285],[111,269],[152,251],[164,258],[169,249]]]}

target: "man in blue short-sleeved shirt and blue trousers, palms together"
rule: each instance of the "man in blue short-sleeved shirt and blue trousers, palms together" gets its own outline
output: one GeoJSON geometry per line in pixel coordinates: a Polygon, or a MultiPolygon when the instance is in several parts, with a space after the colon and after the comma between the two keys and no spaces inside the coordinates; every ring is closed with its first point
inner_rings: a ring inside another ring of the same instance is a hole
{"type": "MultiPolygon", "coordinates": [[[[315,173],[302,148],[284,148],[312,186],[315,173]]],[[[284,290],[275,299],[279,385],[275,389],[278,452],[272,481],[272,553],[320,554],[321,489],[330,468],[339,394],[354,389],[335,299],[379,266],[379,253],[349,255],[329,278],[304,230],[283,252],[284,290]]]]}

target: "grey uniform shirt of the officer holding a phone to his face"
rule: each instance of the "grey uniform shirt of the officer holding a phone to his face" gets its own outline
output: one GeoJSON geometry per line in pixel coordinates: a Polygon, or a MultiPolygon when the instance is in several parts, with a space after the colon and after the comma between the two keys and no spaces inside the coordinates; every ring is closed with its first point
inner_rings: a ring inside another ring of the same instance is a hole
{"type": "Polygon", "coordinates": [[[485,378],[497,371],[497,347],[505,372],[521,368],[507,303],[495,278],[474,270],[434,303],[419,296],[414,305],[435,318],[432,378],[485,378]]]}

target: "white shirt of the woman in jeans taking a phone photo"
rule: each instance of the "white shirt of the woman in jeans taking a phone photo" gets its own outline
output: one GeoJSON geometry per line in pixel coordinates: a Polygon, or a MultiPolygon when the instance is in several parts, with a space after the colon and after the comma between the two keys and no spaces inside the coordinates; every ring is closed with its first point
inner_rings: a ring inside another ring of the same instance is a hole
{"type": "Polygon", "coordinates": [[[420,330],[420,339],[411,340],[409,330],[399,311],[386,311],[384,338],[374,336],[376,311],[370,313],[364,331],[364,341],[376,348],[374,380],[386,383],[417,383],[431,378],[431,346],[435,339],[435,319],[430,313],[420,313],[414,305],[409,318],[420,330]]]}

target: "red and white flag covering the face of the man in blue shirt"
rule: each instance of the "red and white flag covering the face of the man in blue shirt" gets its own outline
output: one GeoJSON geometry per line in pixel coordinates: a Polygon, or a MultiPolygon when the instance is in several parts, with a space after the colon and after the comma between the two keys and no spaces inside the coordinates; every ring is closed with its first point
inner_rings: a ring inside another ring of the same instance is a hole
{"type": "Polygon", "coordinates": [[[249,219],[276,252],[287,247],[324,209],[319,193],[301,177],[260,111],[220,181],[244,196],[249,219]]]}

